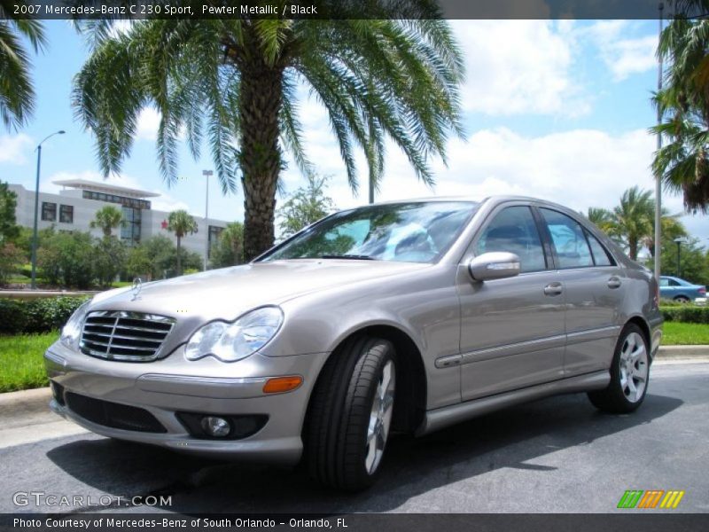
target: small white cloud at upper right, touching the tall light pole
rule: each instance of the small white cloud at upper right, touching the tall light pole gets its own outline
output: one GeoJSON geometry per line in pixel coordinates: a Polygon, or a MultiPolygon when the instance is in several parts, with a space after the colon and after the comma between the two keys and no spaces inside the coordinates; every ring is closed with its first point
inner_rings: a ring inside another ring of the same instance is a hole
{"type": "Polygon", "coordinates": [[[611,70],[613,81],[620,82],[632,74],[642,74],[657,68],[655,51],[657,35],[629,36],[635,33],[635,23],[628,20],[599,20],[581,31],[589,35],[598,53],[611,70]]]}

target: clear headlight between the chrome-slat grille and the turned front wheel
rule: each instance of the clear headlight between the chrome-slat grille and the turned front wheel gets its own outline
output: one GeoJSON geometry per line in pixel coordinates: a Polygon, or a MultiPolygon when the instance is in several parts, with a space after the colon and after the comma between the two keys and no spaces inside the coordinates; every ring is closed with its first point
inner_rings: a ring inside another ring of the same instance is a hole
{"type": "Polygon", "coordinates": [[[211,355],[223,362],[241,360],[269,343],[281,324],[283,311],[277,307],[252,310],[231,323],[212,322],[192,334],[184,357],[198,360],[211,355]]]}

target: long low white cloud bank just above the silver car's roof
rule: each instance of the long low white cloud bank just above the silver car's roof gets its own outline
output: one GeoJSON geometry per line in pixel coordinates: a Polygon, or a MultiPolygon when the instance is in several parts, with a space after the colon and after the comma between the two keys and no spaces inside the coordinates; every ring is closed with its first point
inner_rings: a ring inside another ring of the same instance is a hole
{"type": "MultiPolygon", "coordinates": [[[[330,153],[327,171],[335,178],[329,194],[339,208],[367,201],[367,184],[362,177],[358,198],[347,187],[343,168],[333,148],[321,145],[317,153],[330,153]]],[[[516,194],[550,200],[586,213],[588,207],[612,208],[622,193],[638,185],[654,192],[650,162],[655,137],[645,129],[611,135],[597,129],[575,129],[541,137],[526,137],[505,128],[484,129],[467,143],[448,145],[448,168],[432,165],[433,190],[417,181],[406,158],[389,145],[386,174],[378,201],[406,200],[431,196],[469,196],[482,200],[491,195],[516,194]]],[[[360,171],[365,166],[360,158],[360,171]]],[[[292,188],[298,186],[292,179],[292,188]]],[[[682,197],[663,194],[663,205],[671,213],[682,213],[682,197]]],[[[709,216],[685,215],[682,222],[691,234],[709,238],[709,216]]]]}

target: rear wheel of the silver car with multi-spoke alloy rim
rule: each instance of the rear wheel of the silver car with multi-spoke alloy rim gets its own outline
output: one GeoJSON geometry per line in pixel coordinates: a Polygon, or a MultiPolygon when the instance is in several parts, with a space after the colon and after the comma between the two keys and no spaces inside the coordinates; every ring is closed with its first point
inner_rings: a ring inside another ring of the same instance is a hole
{"type": "Polygon", "coordinates": [[[597,409],[627,414],[643,403],[650,379],[650,348],[643,331],[628,324],[620,332],[611,365],[611,382],[604,390],[588,393],[597,409]]]}

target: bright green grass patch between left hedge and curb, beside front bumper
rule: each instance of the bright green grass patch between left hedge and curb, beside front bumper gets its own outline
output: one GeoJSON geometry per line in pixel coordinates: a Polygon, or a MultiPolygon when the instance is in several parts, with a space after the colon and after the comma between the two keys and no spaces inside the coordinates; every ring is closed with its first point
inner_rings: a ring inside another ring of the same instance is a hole
{"type": "Polygon", "coordinates": [[[0,336],[0,392],[14,392],[49,385],[43,354],[58,331],[44,334],[0,336]]]}

